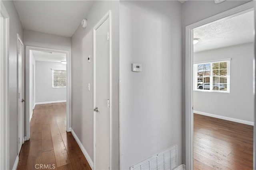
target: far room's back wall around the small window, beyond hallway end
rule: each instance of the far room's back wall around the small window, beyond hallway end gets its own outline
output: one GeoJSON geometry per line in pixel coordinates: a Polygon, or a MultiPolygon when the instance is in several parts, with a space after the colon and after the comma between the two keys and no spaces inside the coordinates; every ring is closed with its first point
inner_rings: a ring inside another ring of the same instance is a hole
{"type": "Polygon", "coordinates": [[[66,88],[52,88],[52,70],[66,70],[66,64],[36,61],[36,103],[66,100],[66,88]]]}

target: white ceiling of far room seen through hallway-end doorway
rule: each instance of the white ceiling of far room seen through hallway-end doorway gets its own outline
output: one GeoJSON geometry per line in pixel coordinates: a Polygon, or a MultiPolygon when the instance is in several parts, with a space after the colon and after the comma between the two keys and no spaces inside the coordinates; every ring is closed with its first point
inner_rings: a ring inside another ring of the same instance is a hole
{"type": "Polygon", "coordinates": [[[36,61],[60,62],[66,61],[66,54],[64,53],[50,53],[44,51],[31,50],[36,61]]]}

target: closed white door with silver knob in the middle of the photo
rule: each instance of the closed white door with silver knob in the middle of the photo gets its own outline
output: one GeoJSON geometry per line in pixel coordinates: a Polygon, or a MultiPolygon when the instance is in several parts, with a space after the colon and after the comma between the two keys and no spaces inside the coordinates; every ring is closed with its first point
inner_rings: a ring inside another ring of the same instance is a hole
{"type": "Polygon", "coordinates": [[[96,114],[96,169],[110,166],[110,43],[109,18],[96,30],[94,60],[94,114],[96,114]]]}

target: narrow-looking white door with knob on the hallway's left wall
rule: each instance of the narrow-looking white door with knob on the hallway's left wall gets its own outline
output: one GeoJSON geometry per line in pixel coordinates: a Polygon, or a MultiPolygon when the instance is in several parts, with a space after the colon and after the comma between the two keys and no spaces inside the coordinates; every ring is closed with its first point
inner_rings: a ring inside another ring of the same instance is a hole
{"type": "Polygon", "coordinates": [[[23,43],[18,37],[18,154],[23,143],[23,115],[24,115],[24,74],[23,74],[23,43]]]}

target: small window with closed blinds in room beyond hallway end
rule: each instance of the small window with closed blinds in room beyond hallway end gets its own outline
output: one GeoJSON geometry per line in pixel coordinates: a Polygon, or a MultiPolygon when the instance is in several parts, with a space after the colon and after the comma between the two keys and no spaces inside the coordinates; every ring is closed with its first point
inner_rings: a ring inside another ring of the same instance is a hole
{"type": "Polygon", "coordinates": [[[66,70],[52,70],[52,88],[65,88],[66,85],[66,70]]]}

